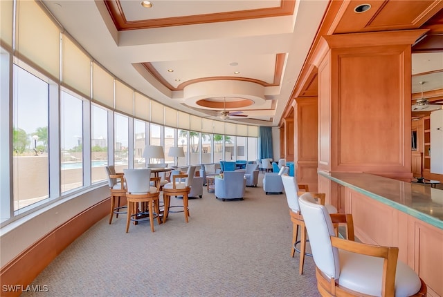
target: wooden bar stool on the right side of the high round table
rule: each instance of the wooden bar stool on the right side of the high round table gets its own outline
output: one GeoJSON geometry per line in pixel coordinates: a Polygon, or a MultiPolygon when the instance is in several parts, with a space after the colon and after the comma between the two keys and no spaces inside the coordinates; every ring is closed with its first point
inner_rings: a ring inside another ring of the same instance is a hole
{"type": "Polygon", "coordinates": [[[190,166],[186,174],[172,171],[171,179],[172,182],[168,182],[163,186],[163,201],[165,202],[165,210],[163,211],[163,222],[166,222],[168,218],[168,213],[179,212],[170,211],[170,201],[171,196],[182,196],[183,197],[183,213],[185,215],[185,222],[188,222],[189,216],[189,205],[188,205],[188,194],[191,191],[192,179],[194,178],[195,166],[190,166]],[[185,179],[182,181],[182,179],[185,179]]]}

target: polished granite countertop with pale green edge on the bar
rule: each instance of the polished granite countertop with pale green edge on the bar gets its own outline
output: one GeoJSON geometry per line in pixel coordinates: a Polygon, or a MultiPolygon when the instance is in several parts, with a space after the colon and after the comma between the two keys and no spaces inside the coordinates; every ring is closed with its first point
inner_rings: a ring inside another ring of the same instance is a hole
{"type": "Polygon", "coordinates": [[[318,174],[443,229],[443,190],[368,173],[318,174]]]}

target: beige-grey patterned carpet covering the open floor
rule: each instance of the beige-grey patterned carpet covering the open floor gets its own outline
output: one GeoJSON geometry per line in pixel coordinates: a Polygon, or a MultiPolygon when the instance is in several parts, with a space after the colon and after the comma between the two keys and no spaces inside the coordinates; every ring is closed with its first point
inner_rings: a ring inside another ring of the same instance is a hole
{"type": "Polygon", "coordinates": [[[261,182],[243,201],[205,188],[188,224],[170,213],[154,233],[149,222],[125,233],[125,219],[100,220],[34,280],[48,292],[22,296],[320,296],[312,258],[300,276],[290,256],[285,195],[264,195],[261,182]]]}

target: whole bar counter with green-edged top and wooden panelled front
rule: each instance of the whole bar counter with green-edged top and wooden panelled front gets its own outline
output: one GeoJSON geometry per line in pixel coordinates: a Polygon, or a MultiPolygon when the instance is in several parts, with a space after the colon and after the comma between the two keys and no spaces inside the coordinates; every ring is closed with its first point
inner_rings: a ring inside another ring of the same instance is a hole
{"type": "Polygon", "coordinates": [[[428,297],[443,297],[443,190],[368,173],[318,171],[318,184],[352,213],[359,240],[398,247],[428,297]]]}

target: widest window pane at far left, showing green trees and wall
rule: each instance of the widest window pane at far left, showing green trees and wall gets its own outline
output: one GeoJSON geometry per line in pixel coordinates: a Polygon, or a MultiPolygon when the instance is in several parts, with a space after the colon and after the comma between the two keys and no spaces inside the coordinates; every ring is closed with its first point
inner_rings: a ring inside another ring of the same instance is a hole
{"type": "Polygon", "coordinates": [[[49,197],[49,84],[14,66],[14,211],[49,197]]]}

